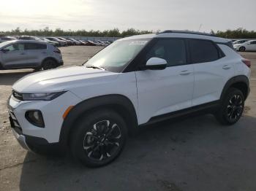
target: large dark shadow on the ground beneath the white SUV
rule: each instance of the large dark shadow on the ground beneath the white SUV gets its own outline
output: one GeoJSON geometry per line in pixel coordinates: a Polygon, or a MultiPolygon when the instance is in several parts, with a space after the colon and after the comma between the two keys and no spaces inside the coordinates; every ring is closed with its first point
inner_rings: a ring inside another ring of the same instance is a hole
{"type": "Polygon", "coordinates": [[[28,152],[20,190],[255,190],[255,124],[244,116],[222,126],[211,115],[161,122],[101,168],[28,152]]]}

